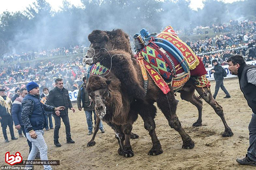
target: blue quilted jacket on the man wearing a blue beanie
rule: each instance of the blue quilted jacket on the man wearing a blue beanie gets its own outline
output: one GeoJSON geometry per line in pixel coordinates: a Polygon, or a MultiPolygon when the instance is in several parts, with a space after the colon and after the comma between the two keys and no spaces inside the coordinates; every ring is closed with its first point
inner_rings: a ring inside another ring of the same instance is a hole
{"type": "Polygon", "coordinates": [[[25,125],[25,131],[42,130],[46,127],[45,111],[54,111],[54,107],[44,105],[40,97],[27,94],[21,103],[21,120],[25,125]]]}

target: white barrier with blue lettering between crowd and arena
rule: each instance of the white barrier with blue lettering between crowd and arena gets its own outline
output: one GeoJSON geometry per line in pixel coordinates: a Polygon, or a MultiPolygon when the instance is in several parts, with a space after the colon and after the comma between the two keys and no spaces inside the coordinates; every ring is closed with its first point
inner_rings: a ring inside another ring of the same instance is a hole
{"type": "MultiPolygon", "coordinates": [[[[256,61],[247,61],[246,64],[256,65],[256,61]]],[[[227,72],[227,77],[225,77],[225,78],[236,77],[236,76],[230,74],[229,69],[228,69],[229,65],[223,65],[222,67],[223,67],[223,68],[225,69],[225,71],[227,72]]],[[[213,74],[211,74],[211,69],[213,69],[213,67],[206,68],[206,71],[207,71],[206,77],[207,77],[209,80],[214,80],[213,74]]],[[[71,101],[76,101],[77,95],[78,95],[78,90],[74,90],[73,92],[68,91],[68,94],[69,94],[69,98],[70,98],[71,101]]]]}

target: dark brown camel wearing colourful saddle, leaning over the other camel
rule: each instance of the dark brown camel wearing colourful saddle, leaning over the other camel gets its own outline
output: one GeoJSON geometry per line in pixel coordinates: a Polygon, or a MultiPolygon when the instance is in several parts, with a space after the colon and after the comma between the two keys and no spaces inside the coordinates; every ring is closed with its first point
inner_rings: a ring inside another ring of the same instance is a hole
{"type": "MultiPolygon", "coordinates": [[[[153,148],[149,154],[162,153],[161,144],[155,134],[154,118],[156,109],[153,105],[155,102],[157,102],[158,107],[168,119],[169,125],[182,136],[182,148],[193,148],[194,142],[183,130],[176,116],[177,102],[172,88],[170,87],[171,91],[165,95],[154,84],[153,80],[149,78],[148,93],[144,96],[145,91],[142,88],[143,79],[141,69],[131,52],[128,35],[120,29],[113,31],[94,30],[89,34],[88,39],[91,45],[86,55],[86,63],[92,65],[100,62],[101,65],[111,69],[111,72],[121,81],[121,91],[128,94],[129,100],[132,102],[131,110],[140,113],[144,120],[145,128],[152,137],[153,148]]],[[[199,126],[202,124],[202,101],[195,96],[195,90],[201,98],[214,108],[217,115],[222,118],[225,126],[222,136],[232,136],[233,133],[225,121],[222,107],[214,100],[210,90],[207,88],[198,88],[192,80],[189,80],[180,92],[182,99],[189,101],[198,108],[199,118],[193,125],[199,126]]]]}

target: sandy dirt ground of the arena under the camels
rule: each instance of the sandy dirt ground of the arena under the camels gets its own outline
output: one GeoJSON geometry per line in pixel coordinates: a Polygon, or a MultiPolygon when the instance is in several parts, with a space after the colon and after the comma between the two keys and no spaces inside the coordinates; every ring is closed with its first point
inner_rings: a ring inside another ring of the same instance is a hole
{"type": "MultiPolygon", "coordinates": [[[[215,81],[212,81],[211,85],[214,92],[215,81]]],[[[106,133],[98,133],[95,138],[96,145],[87,147],[92,136],[87,135],[85,113],[77,110],[75,113],[69,113],[75,144],[66,143],[63,123],[60,130],[62,144],[60,148],[54,146],[54,131],[45,131],[48,158],[60,160],[59,166],[53,166],[54,170],[255,170],[254,167],[236,163],[236,158],[244,156],[249,145],[248,124],[252,112],[239,89],[237,78],[224,80],[224,85],[231,98],[223,98],[225,94],[220,90],[216,100],[224,109],[227,123],[234,132],[233,137],[222,137],[224,131],[222,121],[204,101],[202,126],[192,127],[197,120],[197,109],[192,104],[182,101],[178,94],[177,99],[180,102],[177,115],[185,131],[195,141],[194,149],[182,149],[180,135],[168,126],[167,119],[159,110],[155,123],[156,133],[164,151],[161,155],[148,156],[148,151],[152,147],[151,138],[148,131],[144,129],[140,117],[133,126],[133,132],[140,136],[138,139],[131,140],[134,157],[125,158],[118,155],[119,147],[115,133],[105,123],[106,133]]],[[[77,108],[76,104],[73,105],[77,108]]],[[[18,136],[16,131],[15,134],[18,136]]],[[[23,159],[27,159],[26,138],[22,137],[5,143],[0,131],[0,165],[7,165],[4,158],[7,151],[11,154],[19,151],[23,159]]],[[[42,170],[43,167],[36,166],[35,169],[42,170]]]]}

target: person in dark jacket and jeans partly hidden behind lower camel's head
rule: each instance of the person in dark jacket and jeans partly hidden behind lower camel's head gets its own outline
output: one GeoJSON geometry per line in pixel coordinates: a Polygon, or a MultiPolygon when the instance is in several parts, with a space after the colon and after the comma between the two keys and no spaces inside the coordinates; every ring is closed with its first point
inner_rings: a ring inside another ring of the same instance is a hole
{"type": "MultiPolygon", "coordinates": [[[[85,111],[86,120],[88,124],[88,135],[93,133],[93,119],[92,113],[94,112],[94,122],[96,122],[96,114],[95,114],[95,104],[92,103],[92,100],[89,99],[88,92],[86,91],[86,77],[83,77],[83,84],[79,87],[78,95],[77,95],[77,106],[78,110],[82,111],[82,108],[85,111]],[[82,105],[81,105],[82,101],[82,105]]],[[[101,133],[104,133],[103,124],[100,122],[100,130],[101,133]]]]}

